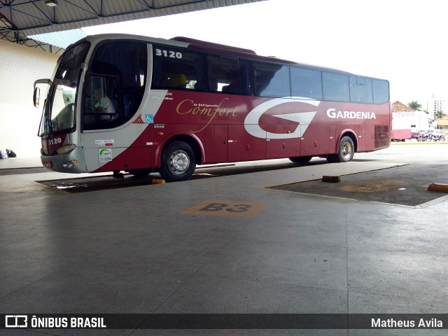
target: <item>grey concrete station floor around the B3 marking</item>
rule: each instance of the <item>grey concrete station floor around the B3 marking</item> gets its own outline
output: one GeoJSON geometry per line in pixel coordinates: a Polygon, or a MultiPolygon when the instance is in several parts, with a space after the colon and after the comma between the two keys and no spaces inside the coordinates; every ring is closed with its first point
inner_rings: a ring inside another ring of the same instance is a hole
{"type": "MultiPolygon", "coordinates": [[[[446,153],[448,147],[442,147],[446,153]]],[[[385,151],[382,157],[381,151],[377,157],[359,154],[355,158],[365,160],[346,164],[72,195],[35,182],[64,174],[0,172],[0,313],[447,313],[447,196],[406,207],[263,188],[406,161],[386,160],[385,151]]],[[[14,160],[0,160],[0,168],[26,166],[7,167],[19,165],[14,160]]],[[[447,172],[448,159],[437,165],[447,172]]],[[[6,331],[39,335],[0,334],[6,331]]],[[[39,332],[447,335],[446,330],[39,332]]]]}

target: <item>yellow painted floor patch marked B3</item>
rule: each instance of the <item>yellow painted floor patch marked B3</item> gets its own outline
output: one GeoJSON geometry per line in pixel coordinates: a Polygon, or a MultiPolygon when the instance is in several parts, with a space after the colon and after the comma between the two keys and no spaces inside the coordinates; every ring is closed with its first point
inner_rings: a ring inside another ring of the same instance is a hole
{"type": "Polygon", "coordinates": [[[267,203],[262,202],[207,200],[182,211],[182,214],[256,217],[266,206],[267,203]]]}

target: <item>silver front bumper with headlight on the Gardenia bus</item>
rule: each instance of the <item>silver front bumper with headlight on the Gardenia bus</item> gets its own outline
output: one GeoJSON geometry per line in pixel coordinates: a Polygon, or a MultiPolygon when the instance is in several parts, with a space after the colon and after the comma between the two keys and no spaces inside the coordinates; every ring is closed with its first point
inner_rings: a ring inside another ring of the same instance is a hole
{"type": "Polygon", "coordinates": [[[43,167],[59,173],[80,174],[87,172],[82,147],[65,154],[41,155],[43,167]]]}

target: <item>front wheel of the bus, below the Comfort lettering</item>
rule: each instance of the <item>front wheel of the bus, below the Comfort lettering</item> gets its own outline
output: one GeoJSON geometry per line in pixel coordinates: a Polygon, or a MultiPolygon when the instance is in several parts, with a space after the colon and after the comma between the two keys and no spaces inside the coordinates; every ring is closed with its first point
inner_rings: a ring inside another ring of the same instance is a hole
{"type": "Polygon", "coordinates": [[[195,153],[189,144],[174,141],[164,149],[160,162],[160,175],[167,182],[188,179],[196,169],[195,153]]]}

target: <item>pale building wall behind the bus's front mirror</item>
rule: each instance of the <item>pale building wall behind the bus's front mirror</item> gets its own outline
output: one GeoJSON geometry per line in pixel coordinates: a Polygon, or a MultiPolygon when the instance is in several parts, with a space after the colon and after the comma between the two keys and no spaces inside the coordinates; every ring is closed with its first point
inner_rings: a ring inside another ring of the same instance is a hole
{"type": "Polygon", "coordinates": [[[43,100],[48,90],[41,87],[41,106],[33,105],[34,80],[50,78],[57,55],[0,40],[0,147],[20,158],[40,155],[37,136],[43,100]]]}

